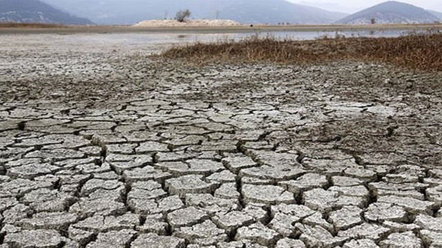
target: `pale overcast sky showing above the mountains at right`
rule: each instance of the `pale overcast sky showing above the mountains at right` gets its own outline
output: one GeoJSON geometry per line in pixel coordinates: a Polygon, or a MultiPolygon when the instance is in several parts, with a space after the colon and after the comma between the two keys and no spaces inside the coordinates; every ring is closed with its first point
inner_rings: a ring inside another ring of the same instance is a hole
{"type": "MultiPolygon", "coordinates": [[[[309,6],[324,8],[326,10],[340,12],[358,12],[385,0],[287,0],[293,3],[301,3],[309,6]]],[[[442,0],[400,0],[403,3],[410,3],[421,8],[442,12],[442,0]]]]}

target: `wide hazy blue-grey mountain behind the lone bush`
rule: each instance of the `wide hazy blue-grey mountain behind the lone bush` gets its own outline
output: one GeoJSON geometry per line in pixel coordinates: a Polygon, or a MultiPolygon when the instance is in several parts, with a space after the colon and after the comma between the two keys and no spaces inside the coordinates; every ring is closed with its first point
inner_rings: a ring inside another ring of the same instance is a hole
{"type": "Polygon", "coordinates": [[[232,19],[240,23],[333,23],[347,14],[285,0],[44,0],[99,24],[133,24],[173,18],[189,9],[193,19],[232,19]]]}

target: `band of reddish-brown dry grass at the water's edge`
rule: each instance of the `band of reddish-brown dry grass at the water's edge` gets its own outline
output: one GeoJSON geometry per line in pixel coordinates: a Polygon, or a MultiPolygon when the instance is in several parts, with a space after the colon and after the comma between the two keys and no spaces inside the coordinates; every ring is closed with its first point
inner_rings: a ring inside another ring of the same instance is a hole
{"type": "Polygon", "coordinates": [[[214,62],[307,64],[358,60],[442,71],[442,32],[411,33],[397,38],[325,37],[314,41],[251,37],[241,41],[178,46],[159,56],[185,59],[199,65],[214,62]]]}

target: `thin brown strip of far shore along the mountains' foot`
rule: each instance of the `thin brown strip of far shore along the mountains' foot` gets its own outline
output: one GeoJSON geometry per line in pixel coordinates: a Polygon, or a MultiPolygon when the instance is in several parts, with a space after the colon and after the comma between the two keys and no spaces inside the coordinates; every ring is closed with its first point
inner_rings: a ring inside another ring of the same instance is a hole
{"type": "Polygon", "coordinates": [[[442,24],[374,25],[239,25],[225,27],[133,27],[131,25],[66,25],[53,28],[1,28],[0,34],[75,33],[254,33],[254,32],[341,32],[370,30],[442,30],[442,24]]]}

